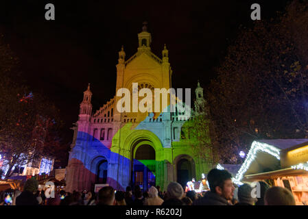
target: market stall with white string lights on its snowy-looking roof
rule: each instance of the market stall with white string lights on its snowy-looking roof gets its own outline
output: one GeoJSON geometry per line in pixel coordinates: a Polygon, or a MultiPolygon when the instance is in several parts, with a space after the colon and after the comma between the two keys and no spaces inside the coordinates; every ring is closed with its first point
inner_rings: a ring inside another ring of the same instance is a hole
{"type": "Polygon", "coordinates": [[[252,142],[236,179],[267,181],[292,191],[296,205],[308,205],[308,140],[278,139],[252,142]]]}

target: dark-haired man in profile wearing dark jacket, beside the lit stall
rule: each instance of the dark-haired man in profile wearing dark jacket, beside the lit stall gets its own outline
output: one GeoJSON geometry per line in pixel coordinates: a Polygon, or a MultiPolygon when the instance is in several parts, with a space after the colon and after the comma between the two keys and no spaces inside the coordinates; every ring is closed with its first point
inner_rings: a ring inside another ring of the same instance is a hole
{"type": "Polygon", "coordinates": [[[209,192],[202,198],[193,202],[193,205],[232,205],[235,187],[233,186],[231,175],[226,170],[213,169],[207,175],[209,181],[209,192]]]}

